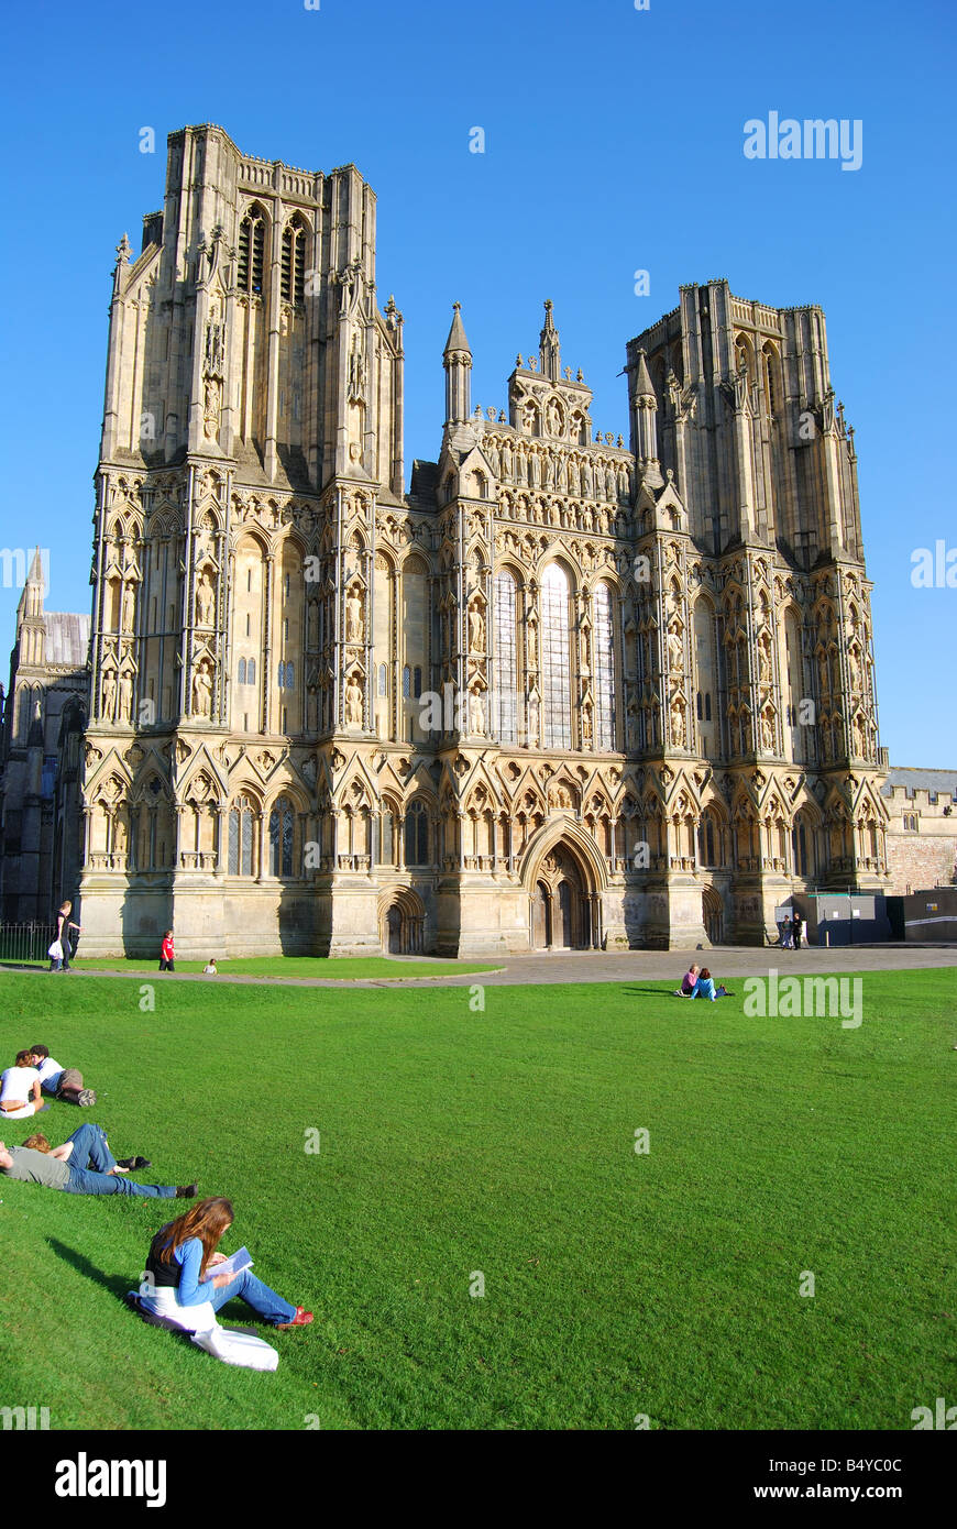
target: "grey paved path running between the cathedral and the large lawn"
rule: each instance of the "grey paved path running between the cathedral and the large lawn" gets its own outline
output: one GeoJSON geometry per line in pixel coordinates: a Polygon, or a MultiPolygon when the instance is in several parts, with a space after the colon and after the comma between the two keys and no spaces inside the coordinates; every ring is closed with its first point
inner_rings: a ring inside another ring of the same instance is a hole
{"type": "MultiPolygon", "coordinates": [[[[397,965],[416,965],[413,957],[393,957],[397,965]]],[[[731,977],[751,977],[767,974],[772,968],[781,976],[784,972],[829,972],[829,971],[917,971],[920,968],[957,968],[955,945],[844,945],[830,950],[816,945],[801,951],[784,951],[770,945],[764,950],[755,945],[722,945],[712,951],[550,951],[530,956],[506,956],[489,959],[494,971],[486,972],[456,972],[454,963],[440,977],[405,979],[404,988],[442,986],[526,986],[549,983],[589,983],[589,982],[680,982],[688,963],[694,960],[699,966],[709,966],[719,980],[731,977]]],[[[2,966],[0,971],[24,972],[35,977],[50,976],[40,966],[2,966]]],[[[52,976],[57,976],[54,972],[52,976]]],[[[394,979],[387,977],[251,977],[229,976],[220,972],[219,977],[203,977],[202,972],[177,971],[157,972],[147,971],[90,971],[79,965],[70,968],[70,977],[122,977],[127,982],[229,982],[249,983],[252,986],[290,986],[290,988],[393,988],[394,979]]]]}

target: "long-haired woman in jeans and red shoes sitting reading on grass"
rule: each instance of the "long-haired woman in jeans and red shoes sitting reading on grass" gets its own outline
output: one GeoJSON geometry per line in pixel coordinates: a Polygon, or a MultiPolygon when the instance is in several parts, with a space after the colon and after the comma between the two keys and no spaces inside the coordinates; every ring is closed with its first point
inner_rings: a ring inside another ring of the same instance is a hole
{"type": "Polygon", "coordinates": [[[304,1327],[312,1312],[290,1306],[249,1272],[252,1258],[240,1249],[232,1258],[217,1252],[232,1226],[229,1200],[199,1200],[185,1216],[162,1226],[150,1243],[139,1300],[147,1312],[165,1316],[188,1332],[216,1326],[216,1313],[238,1295],[272,1327],[304,1327]]]}

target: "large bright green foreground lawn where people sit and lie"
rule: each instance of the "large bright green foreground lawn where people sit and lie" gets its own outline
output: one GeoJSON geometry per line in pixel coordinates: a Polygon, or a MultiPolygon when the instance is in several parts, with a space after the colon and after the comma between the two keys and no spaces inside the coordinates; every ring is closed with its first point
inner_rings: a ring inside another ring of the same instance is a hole
{"type": "Polygon", "coordinates": [[[0,1177],[0,1404],[84,1430],[910,1430],[957,1393],[957,974],[862,980],[842,1029],[746,1018],[740,980],[719,1005],[486,988],[485,1012],[468,986],[157,982],[141,1012],[136,982],[0,974],[5,1057],[46,1041],[99,1090],[47,1135],[93,1118],[141,1177],[228,1194],[225,1249],[316,1316],[275,1375],[222,1365],[119,1301],[168,1202],[0,1177]]]}

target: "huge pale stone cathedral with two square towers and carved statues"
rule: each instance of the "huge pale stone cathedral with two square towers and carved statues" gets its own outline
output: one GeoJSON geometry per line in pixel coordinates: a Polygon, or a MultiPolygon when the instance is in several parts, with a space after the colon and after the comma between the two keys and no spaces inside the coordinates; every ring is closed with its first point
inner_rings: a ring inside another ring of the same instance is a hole
{"type": "Polygon", "coordinates": [[[598,431],[552,303],[472,404],[454,304],[405,491],[376,199],[168,145],[113,271],[84,951],[494,956],[761,943],[882,890],[853,428],[824,315],[723,280],[627,344],[598,431]]]}

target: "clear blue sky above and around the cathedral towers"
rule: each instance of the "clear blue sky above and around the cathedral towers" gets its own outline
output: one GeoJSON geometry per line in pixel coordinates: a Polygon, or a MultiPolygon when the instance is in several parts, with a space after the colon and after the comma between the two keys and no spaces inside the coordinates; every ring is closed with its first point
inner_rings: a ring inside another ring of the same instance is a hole
{"type": "MultiPolygon", "coordinates": [[[[376,191],[379,300],[405,315],[407,469],[437,453],[454,300],[474,402],[504,402],[550,297],[596,427],[625,436],[625,341],[679,283],[819,303],[858,431],[882,742],[894,763],[957,768],[957,589],[911,584],[914,549],[957,546],[955,38],[951,0],[8,11],[0,541],[49,546],[49,605],[89,609],[113,251],[124,229],[139,249],[162,205],[167,133],[219,122],[249,154],[353,161],[376,191]],[[743,124],[772,110],[859,118],[861,168],[748,161],[743,124]]],[[[3,651],[17,598],[0,589],[3,651]]]]}

